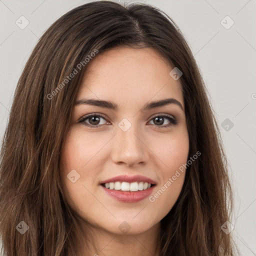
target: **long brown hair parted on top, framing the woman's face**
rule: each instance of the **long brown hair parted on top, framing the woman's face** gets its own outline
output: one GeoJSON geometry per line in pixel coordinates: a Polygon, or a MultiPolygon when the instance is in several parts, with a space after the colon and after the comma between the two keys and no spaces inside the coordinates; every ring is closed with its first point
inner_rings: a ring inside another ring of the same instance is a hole
{"type": "Polygon", "coordinates": [[[161,220],[160,255],[233,255],[231,236],[220,229],[232,205],[227,162],[193,55],[178,26],[161,10],[111,1],[78,6],[55,21],[18,81],[1,148],[4,255],[62,256],[69,249],[70,255],[77,254],[77,216],[63,197],[60,153],[86,56],[118,45],[152,47],[182,71],[188,159],[201,152],[186,170],[176,203],[161,220]],[[20,221],[29,227],[23,234],[15,228],[24,228],[20,221]]]}

